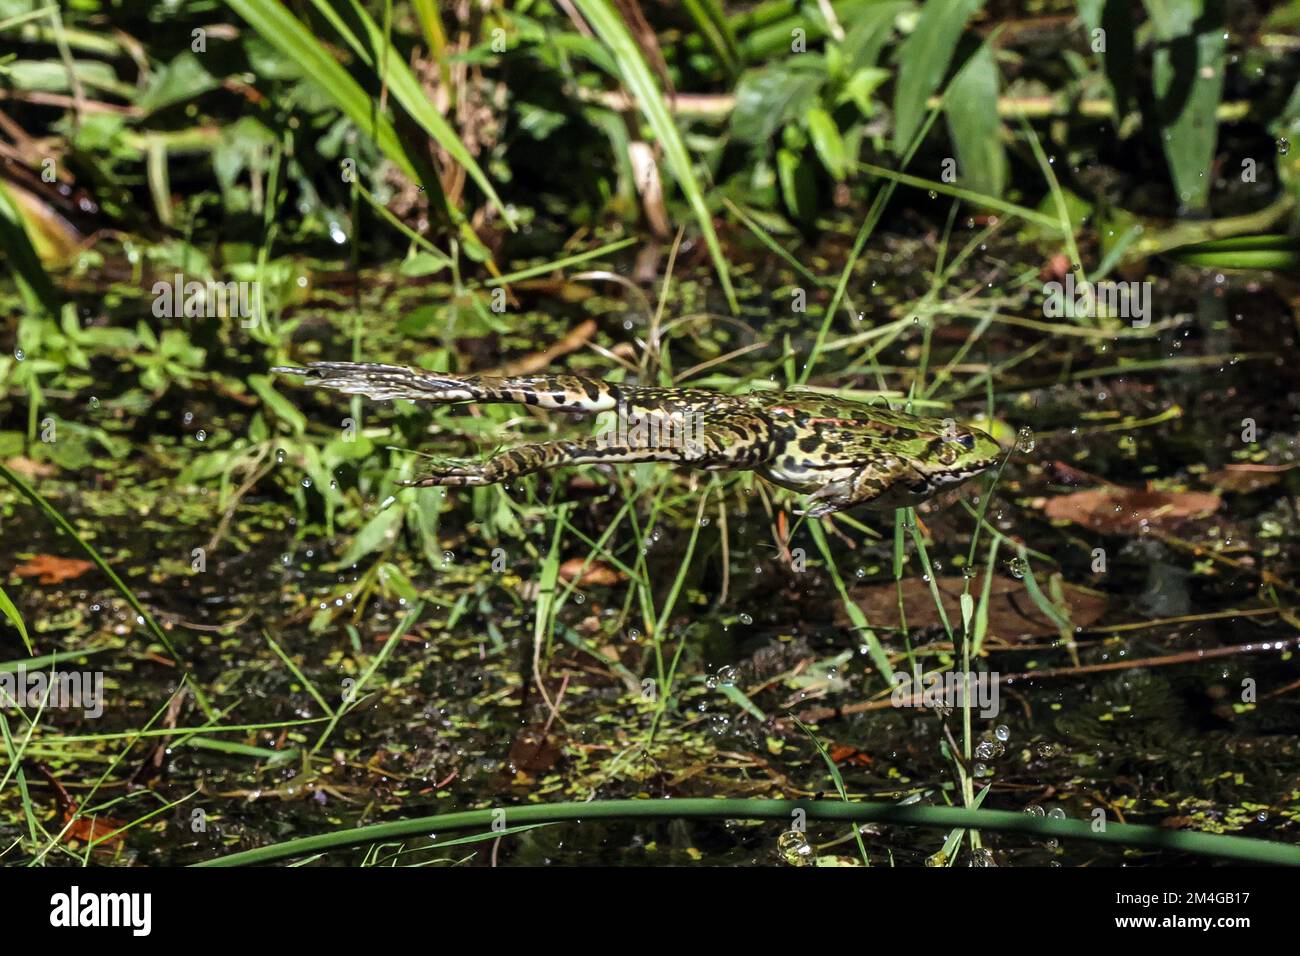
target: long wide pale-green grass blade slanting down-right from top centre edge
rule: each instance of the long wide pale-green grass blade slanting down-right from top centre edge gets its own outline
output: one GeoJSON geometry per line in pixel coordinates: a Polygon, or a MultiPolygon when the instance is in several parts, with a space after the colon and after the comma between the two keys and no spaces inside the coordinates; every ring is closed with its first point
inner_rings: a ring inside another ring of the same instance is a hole
{"type": "Polygon", "coordinates": [[[712,213],[705,204],[705,193],[696,178],[696,170],[690,165],[690,155],[686,152],[686,144],[682,142],[681,133],[672,120],[672,113],[668,111],[668,104],[664,103],[663,94],[655,86],[654,77],[650,74],[650,68],[641,56],[636,40],[632,39],[632,34],[628,33],[627,26],[624,26],[623,21],[614,12],[608,0],[575,0],[575,3],[582,12],[586,22],[592,25],[592,29],[604,46],[614,53],[623,82],[632,91],[637,107],[654,131],[655,139],[659,142],[664,157],[668,160],[672,176],[677,181],[677,189],[681,190],[692,212],[696,213],[699,232],[705,237],[705,245],[708,246],[714,268],[718,271],[718,280],[722,282],[723,293],[727,295],[727,304],[731,306],[733,313],[740,312],[740,303],[736,300],[734,289],[732,289],[731,271],[727,268],[727,256],[723,255],[718,233],[714,232],[712,213]]]}

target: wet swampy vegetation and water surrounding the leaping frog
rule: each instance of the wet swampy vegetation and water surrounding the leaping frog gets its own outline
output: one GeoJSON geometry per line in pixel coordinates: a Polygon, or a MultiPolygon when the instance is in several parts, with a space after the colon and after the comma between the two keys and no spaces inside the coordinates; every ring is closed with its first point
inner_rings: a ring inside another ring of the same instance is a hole
{"type": "Polygon", "coordinates": [[[0,36],[0,862],[1300,861],[1300,3],[0,36]],[[816,389],[1006,457],[819,519],[662,464],[412,488],[593,424],[270,372],[313,360],[816,389]]]}

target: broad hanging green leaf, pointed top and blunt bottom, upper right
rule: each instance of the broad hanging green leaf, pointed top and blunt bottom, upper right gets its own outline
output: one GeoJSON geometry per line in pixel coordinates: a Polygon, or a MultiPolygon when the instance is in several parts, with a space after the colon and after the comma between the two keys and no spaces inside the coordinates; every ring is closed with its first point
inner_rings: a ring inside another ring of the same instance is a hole
{"type": "Polygon", "coordinates": [[[1001,77],[993,48],[976,51],[948,87],[944,116],[957,148],[957,179],[967,189],[1001,196],[1006,187],[1006,147],[997,116],[1001,77]]]}

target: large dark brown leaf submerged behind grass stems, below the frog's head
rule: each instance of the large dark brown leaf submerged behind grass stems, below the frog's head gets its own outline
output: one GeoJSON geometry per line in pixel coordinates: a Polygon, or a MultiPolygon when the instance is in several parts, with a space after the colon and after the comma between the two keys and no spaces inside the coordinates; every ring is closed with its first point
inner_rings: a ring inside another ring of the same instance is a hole
{"type": "MultiPolygon", "coordinates": [[[[966,580],[959,576],[940,578],[939,594],[948,614],[948,623],[959,628],[962,623],[961,597],[966,580]]],[[[1046,589],[1046,583],[1043,581],[1046,589]]],[[[971,598],[979,605],[984,591],[984,576],[979,575],[970,583],[971,598]]],[[[1087,627],[1106,610],[1105,594],[1078,588],[1072,584],[1062,587],[1066,611],[1075,627],[1087,627]]],[[[849,592],[854,604],[867,615],[874,627],[898,627],[898,585],[872,584],[867,588],[854,588],[849,592]]],[[[930,584],[919,578],[905,578],[902,581],[902,607],[907,617],[909,630],[941,626],[939,609],[930,593],[930,584]]],[[[836,619],[850,624],[842,605],[836,606],[836,619]]],[[[988,596],[988,633],[1004,640],[1026,637],[1046,637],[1058,633],[1057,626],[1048,618],[1024,589],[1024,581],[1014,578],[993,575],[988,596]]]]}

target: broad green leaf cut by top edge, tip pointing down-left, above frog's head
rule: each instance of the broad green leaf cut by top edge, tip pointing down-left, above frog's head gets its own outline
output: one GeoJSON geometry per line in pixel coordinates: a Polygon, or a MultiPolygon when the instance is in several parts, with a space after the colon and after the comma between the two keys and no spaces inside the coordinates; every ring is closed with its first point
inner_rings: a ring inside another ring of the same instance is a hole
{"type": "Polygon", "coordinates": [[[898,49],[898,83],[894,88],[894,153],[902,156],[926,118],[926,101],[935,92],[948,66],[966,21],[984,0],[930,0],[916,20],[911,36],[898,49]]]}

